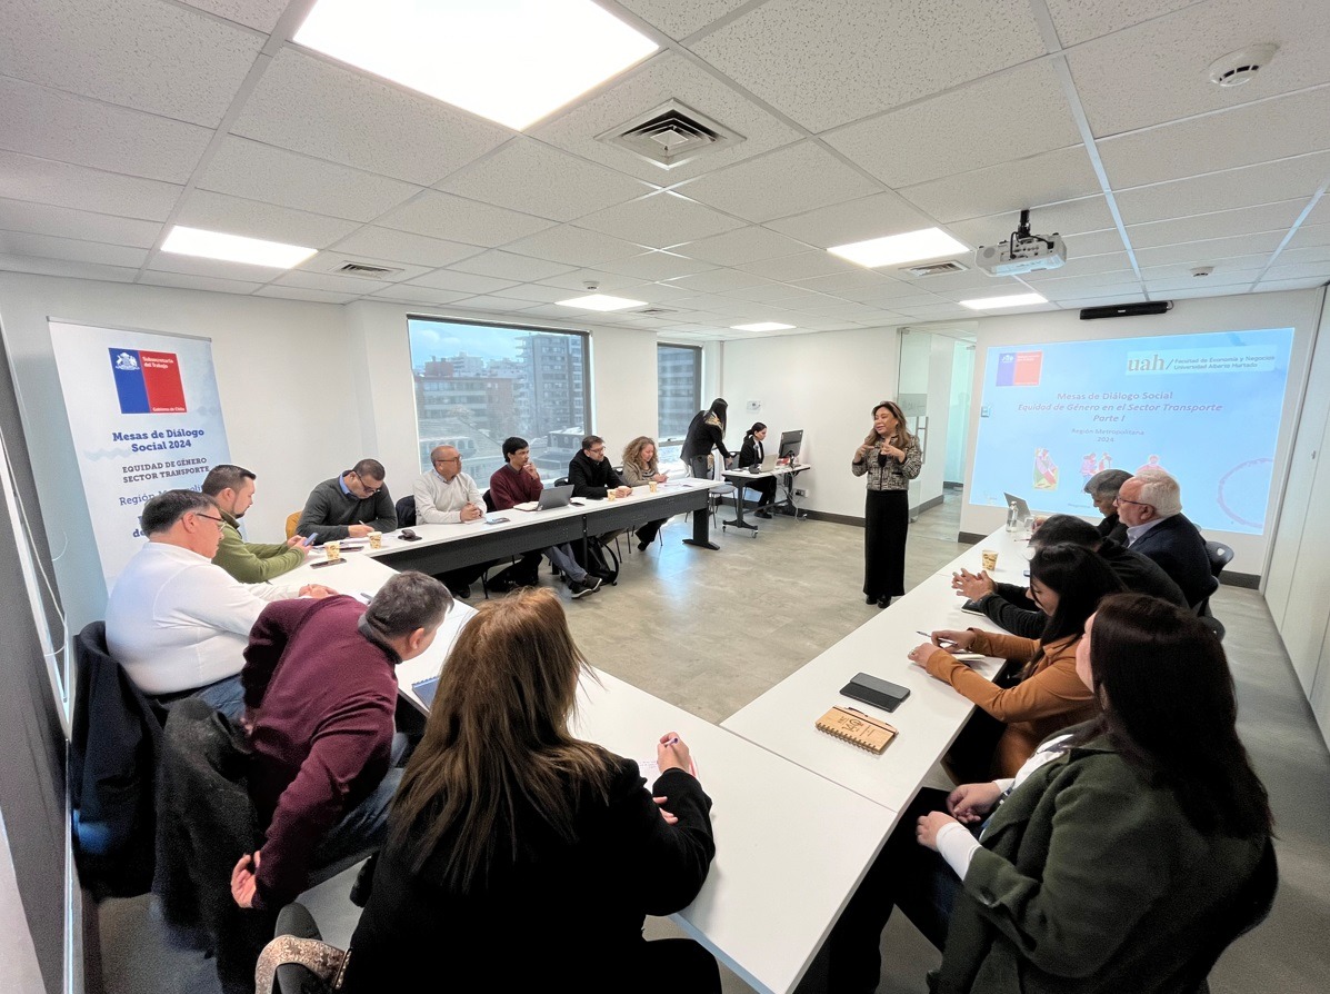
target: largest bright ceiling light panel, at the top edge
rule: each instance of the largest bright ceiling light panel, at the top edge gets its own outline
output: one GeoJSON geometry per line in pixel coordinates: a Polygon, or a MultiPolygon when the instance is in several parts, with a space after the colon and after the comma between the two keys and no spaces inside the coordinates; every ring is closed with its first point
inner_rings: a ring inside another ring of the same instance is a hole
{"type": "Polygon", "coordinates": [[[295,41],[515,130],[657,49],[591,0],[319,0],[295,41]]]}

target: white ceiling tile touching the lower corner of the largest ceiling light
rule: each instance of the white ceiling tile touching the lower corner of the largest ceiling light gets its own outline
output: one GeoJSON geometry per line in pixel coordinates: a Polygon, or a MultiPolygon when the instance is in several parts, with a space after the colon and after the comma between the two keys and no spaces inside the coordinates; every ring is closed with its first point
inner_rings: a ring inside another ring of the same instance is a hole
{"type": "Polygon", "coordinates": [[[652,190],[640,180],[524,136],[454,173],[438,189],[553,221],[572,221],[652,190]]]}

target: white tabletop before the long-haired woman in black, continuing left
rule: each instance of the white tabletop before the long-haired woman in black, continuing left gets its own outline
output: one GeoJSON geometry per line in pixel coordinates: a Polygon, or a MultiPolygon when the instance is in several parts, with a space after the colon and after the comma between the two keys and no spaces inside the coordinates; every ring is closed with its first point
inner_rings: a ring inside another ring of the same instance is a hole
{"type": "MultiPolygon", "coordinates": [[[[372,595],[394,574],[354,552],[346,566],[306,563],[282,580],[372,595]]],[[[455,603],[434,645],[398,667],[402,695],[420,711],[411,684],[439,675],[475,613],[455,603]]],[[[882,848],[894,813],[609,673],[584,679],[577,705],[575,732],[620,756],[653,760],[665,732],[688,743],[714,802],[716,860],[697,900],[672,918],[755,990],[793,990],[882,848]]]]}

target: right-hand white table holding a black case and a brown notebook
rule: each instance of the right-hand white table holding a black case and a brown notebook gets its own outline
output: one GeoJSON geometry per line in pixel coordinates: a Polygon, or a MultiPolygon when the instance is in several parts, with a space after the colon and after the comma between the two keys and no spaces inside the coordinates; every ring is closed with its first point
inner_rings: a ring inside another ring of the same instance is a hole
{"type": "MultiPolygon", "coordinates": [[[[827,780],[892,812],[900,812],[924,782],[974,705],[948,684],[928,676],[911,663],[910,649],[927,639],[919,631],[980,628],[999,631],[987,617],[960,609],[962,597],[951,589],[950,575],[960,566],[978,568],[979,550],[999,551],[1001,567],[995,579],[1019,583],[1025,568],[1024,543],[1005,532],[988,536],[980,546],[958,556],[946,568],[896,600],[876,617],[857,628],[813,661],[787,676],[761,697],[721,723],[737,735],[783,756],[827,780]],[[1004,562],[1005,558],[1005,562],[1004,562]],[[1011,563],[1011,566],[1008,566],[1011,563]],[[1012,579],[1007,574],[1013,574],[1012,579]],[[910,696],[886,712],[841,695],[841,688],[859,672],[910,688],[910,696]],[[823,732],[814,721],[833,704],[854,707],[896,728],[899,735],[880,754],[857,749],[823,732]]],[[[1001,660],[987,659],[975,669],[992,676],[1001,660]]]]}

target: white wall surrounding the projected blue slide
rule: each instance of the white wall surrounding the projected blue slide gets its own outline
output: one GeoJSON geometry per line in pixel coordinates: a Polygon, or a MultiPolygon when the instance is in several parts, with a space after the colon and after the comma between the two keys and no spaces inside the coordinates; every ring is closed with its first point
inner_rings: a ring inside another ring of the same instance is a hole
{"type": "MultiPolygon", "coordinates": [[[[1289,362],[1290,375],[1285,391],[1283,420],[1275,447],[1275,466],[1271,479],[1270,516],[1277,520],[1279,514],[1281,487],[1289,450],[1293,439],[1294,413],[1302,395],[1302,383],[1307,373],[1311,341],[1321,313],[1319,290],[1297,290],[1289,293],[1261,293],[1241,297],[1212,297],[1204,299],[1177,301],[1166,314],[1113,318],[1105,321],[1080,321],[1075,311],[1049,311],[1040,314],[1011,314],[1004,317],[980,318],[979,338],[975,353],[974,397],[976,403],[970,413],[970,451],[974,452],[979,432],[979,405],[983,395],[984,357],[987,350],[998,345],[1037,345],[1041,342],[1067,342],[1092,338],[1134,338],[1138,335],[1182,335],[1197,331],[1254,330],[1264,327],[1291,327],[1293,355],[1289,362]]],[[[974,471],[974,458],[966,472],[967,491],[974,471]]],[[[1186,503],[1186,484],[1182,484],[1182,503],[1186,503]]],[[[967,503],[960,511],[963,532],[988,534],[1003,523],[1003,508],[982,507],[967,503]]],[[[1267,535],[1238,535],[1217,530],[1206,530],[1206,538],[1217,539],[1230,546],[1234,560],[1229,566],[1233,572],[1261,575],[1269,554],[1267,535]]]]}

